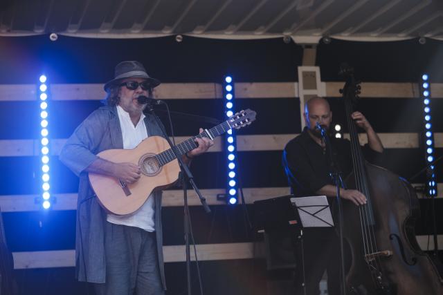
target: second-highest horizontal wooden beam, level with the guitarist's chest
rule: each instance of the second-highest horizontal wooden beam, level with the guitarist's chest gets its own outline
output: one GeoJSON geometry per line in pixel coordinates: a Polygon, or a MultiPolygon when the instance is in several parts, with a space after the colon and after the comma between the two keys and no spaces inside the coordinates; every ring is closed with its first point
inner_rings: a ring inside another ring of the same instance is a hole
{"type": "MultiPolygon", "coordinates": [[[[419,147],[418,133],[378,133],[386,149],[416,149],[419,147]]],[[[284,146],[298,134],[266,134],[266,135],[237,135],[238,151],[282,151],[284,146]]],[[[177,136],[176,142],[183,142],[191,136],[177,136]]],[[[346,133],[345,138],[349,138],[346,133]]],[[[360,143],[368,142],[364,133],[359,134],[360,143]]],[[[443,147],[443,133],[434,133],[435,147],[443,147]]],[[[51,155],[59,155],[65,139],[55,139],[49,142],[51,155]]],[[[215,139],[210,153],[223,151],[221,137],[215,139]]],[[[0,140],[0,157],[24,157],[39,155],[37,140],[0,140]]]]}

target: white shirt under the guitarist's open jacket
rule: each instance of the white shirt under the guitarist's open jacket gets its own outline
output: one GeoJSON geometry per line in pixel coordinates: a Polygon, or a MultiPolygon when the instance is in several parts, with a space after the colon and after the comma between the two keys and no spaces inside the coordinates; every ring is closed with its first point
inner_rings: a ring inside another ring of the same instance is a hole
{"type": "MultiPolygon", "coordinates": [[[[123,149],[134,149],[142,140],[147,138],[147,130],[145,126],[145,114],[141,114],[140,120],[134,127],[134,124],[127,113],[121,106],[117,106],[118,120],[123,135],[123,149]]],[[[145,204],[135,211],[127,215],[108,214],[107,221],[116,225],[127,225],[129,227],[139,227],[145,231],[155,231],[155,200],[151,194],[145,204]]]]}

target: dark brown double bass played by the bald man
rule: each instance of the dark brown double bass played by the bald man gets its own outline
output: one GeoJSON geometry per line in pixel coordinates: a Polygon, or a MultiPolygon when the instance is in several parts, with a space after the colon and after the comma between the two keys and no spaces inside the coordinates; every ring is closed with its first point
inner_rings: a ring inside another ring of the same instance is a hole
{"type": "Polygon", "coordinates": [[[341,90],[350,133],[353,172],[348,188],[358,189],[367,202],[343,200],[343,238],[350,248],[347,294],[439,295],[443,280],[415,238],[419,201],[413,187],[391,171],[365,162],[351,114],[360,93],[353,70],[343,67],[341,90]]]}

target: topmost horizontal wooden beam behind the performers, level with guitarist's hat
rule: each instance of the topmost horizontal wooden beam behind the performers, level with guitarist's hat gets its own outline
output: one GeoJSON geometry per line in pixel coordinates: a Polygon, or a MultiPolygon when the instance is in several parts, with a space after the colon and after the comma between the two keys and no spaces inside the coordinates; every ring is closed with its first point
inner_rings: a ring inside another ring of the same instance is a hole
{"type": "MultiPolygon", "coordinates": [[[[343,82],[322,82],[327,97],[341,97],[338,92],[343,82]]],[[[54,100],[100,100],[106,96],[102,84],[51,84],[54,100]]],[[[237,98],[284,98],[299,97],[297,82],[251,82],[235,83],[237,98]]],[[[361,84],[361,97],[416,98],[416,83],[361,84]]],[[[156,99],[219,99],[221,84],[217,83],[164,83],[154,89],[156,99]]],[[[443,98],[443,83],[431,84],[431,97],[443,98]]],[[[0,101],[29,101],[37,99],[35,84],[0,85],[0,101]]]]}

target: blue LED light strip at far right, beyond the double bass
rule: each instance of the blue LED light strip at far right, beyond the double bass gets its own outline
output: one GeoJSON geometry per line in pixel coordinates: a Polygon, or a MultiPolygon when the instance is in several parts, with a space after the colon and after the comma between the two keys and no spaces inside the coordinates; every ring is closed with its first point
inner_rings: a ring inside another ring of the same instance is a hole
{"type": "MultiPolygon", "coordinates": [[[[424,146],[426,165],[431,164],[434,159],[434,133],[431,115],[431,84],[427,74],[422,75],[420,83],[420,96],[423,101],[424,122],[424,146]]],[[[435,177],[435,166],[430,165],[426,169],[426,196],[433,198],[437,196],[437,178],[435,177]]]]}

